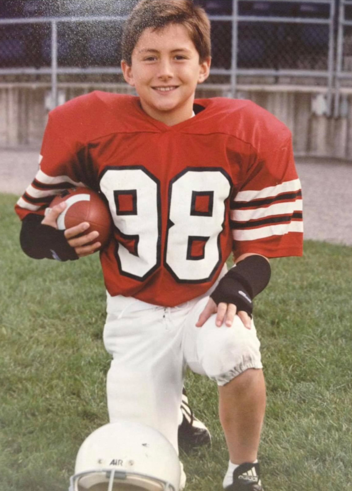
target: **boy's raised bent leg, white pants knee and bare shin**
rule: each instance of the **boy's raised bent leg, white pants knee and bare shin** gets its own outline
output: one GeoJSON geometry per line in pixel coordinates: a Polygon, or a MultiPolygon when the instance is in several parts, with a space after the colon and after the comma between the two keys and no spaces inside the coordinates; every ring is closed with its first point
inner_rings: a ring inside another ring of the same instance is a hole
{"type": "Polygon", "coordinates": [[[191,370],[218,384],[219,417],[231,462],[253,462],[266,399],[260,342],[254,324],[246,329],[238,316],[231,327],[217,327],[215,315],[203,327],[195,327],[207,300],[200,300],[187,318],[185,359],[191,370]]]}

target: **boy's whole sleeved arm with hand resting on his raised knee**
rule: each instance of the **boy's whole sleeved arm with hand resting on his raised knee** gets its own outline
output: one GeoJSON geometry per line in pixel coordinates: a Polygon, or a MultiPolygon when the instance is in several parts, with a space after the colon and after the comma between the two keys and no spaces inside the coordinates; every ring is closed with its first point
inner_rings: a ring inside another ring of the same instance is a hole
{"type": "Polygon", "coordinates": [[[237,266],[220,280],[198,327],[217,313],[217,326],[223,321],[231,326],[238,314],[250,328],[252,300],[270,280],[267,258],[302,253],[302,200],[291,134],[273,116],[267,118],[266,125],[258,123],[261,128],[253,139],[253,155],[243,165],[241,182],[230,202],[237,266]]]}

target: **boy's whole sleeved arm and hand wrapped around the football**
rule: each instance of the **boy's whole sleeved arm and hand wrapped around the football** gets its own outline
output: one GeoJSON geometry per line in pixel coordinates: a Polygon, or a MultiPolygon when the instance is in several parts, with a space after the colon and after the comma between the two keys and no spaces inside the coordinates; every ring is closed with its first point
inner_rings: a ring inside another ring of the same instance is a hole
{"type": "Polygon", "coordinates": [[[85,222],[64,231],[57,230],[56,218],[65,204],[48,209],[54,197],[62,191],[95,185],[84,158],[84,134],[80,133],[82,125],[77,124],[80,114],[81,107],[77,101],[50,113],[39,170],[15,206],[22,220],[22,249],[35,259],[75,260],[99,248],[98,242],[89,244],[97,234],[77,237],[86,230],[85,222]]]}

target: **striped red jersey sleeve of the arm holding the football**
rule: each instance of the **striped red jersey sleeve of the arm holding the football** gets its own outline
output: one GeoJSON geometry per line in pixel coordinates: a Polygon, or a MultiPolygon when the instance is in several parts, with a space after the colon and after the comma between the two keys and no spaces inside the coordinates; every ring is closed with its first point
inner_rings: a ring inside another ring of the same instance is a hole
{"type": "Polygon", "coordinates": [[[84,186],[83,159],[80,154],[82,145],[64,131],[64,118],[57,117],[54,109],[49,115],[43,137],[39,170],[26,191],[17,201],[15,211],[25,218],[28,214],[44,215],[56,194],[65,189],[84,186]]]}

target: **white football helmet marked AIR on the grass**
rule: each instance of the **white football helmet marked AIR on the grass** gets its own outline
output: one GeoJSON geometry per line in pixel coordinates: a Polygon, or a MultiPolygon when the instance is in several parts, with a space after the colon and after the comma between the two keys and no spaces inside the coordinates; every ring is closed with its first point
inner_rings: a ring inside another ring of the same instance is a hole
{"type": "Polygon", "coordinates": [[[179,491],[180,473],[167,438],[149,426],[120,420],[83,441],[69,491],[179,491]]]}

